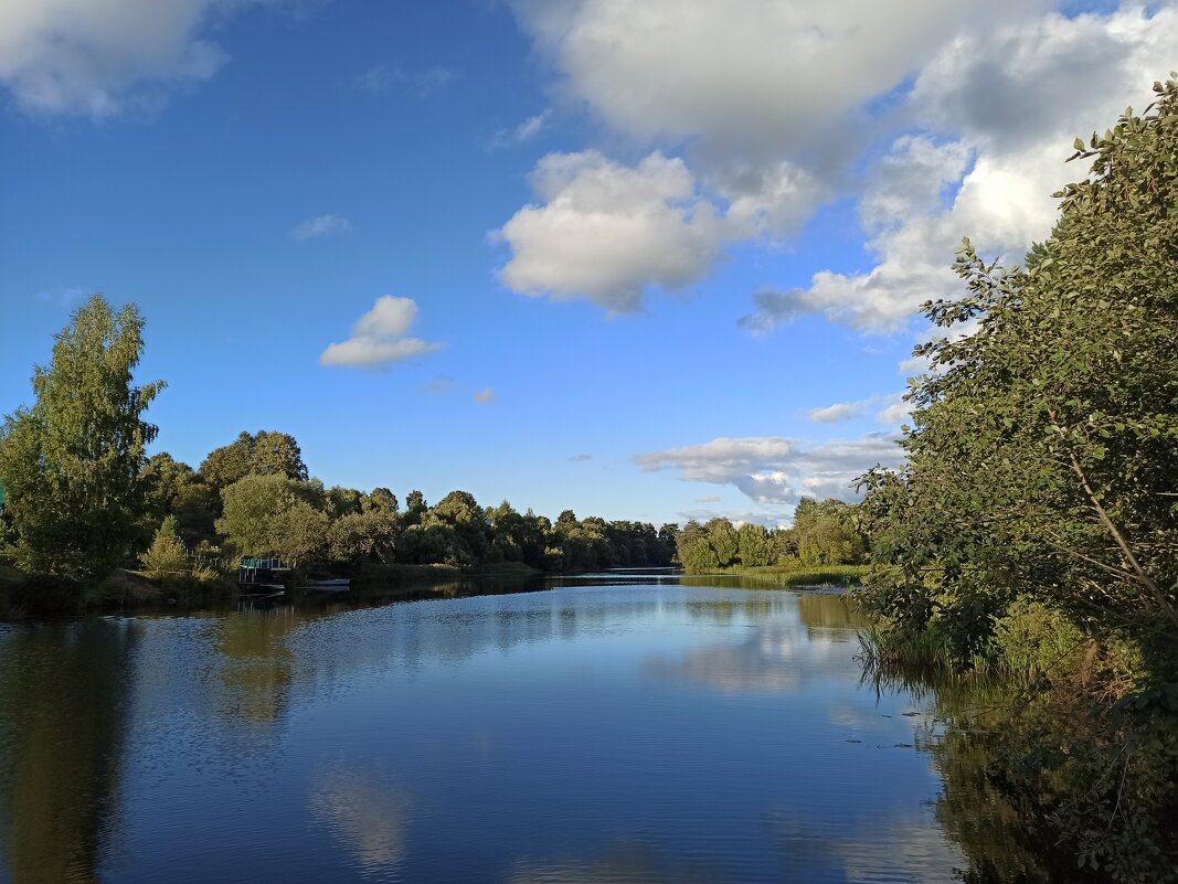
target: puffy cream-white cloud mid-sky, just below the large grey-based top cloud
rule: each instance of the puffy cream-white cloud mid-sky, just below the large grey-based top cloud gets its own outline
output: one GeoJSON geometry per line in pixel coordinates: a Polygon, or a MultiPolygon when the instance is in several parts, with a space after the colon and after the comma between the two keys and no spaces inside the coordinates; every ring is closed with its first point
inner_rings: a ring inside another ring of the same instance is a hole
{"type": "Polygon", "coordinates": [[[659,153],[636,167],[596,151],[554,153],[531,180],[544,205],[519,210],[496,234],[512,250],[499,278],[523,294],[631,313],[647,288],[706,274],[727,237],[683,161],[659,153]]]}

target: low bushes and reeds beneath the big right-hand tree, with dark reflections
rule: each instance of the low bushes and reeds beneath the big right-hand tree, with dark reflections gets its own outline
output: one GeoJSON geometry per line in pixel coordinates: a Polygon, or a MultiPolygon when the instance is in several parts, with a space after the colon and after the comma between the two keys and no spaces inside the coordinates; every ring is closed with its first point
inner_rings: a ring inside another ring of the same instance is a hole
{"type": "Polygon", "coordinates": [[[1028,599],[968,660],[937,620],[906,633],[878,619],[860,642],[878,691],[935,698],[938,816],[974,869],[1043,884],[1176,879],[1178,684],[1132,643],[1091,638],[1028,599]]]}

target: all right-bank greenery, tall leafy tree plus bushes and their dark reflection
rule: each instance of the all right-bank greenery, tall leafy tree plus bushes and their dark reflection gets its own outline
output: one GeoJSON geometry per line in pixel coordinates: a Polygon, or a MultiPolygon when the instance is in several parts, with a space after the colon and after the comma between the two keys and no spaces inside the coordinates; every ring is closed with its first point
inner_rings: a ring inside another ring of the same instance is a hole
{"type": "Polygon", "coordinates": [[[1077,139],[1025,267],[964,242],[906,465],[862,478],[865,678],[935,693],[967,883],[1178,880],[1178,74],[1153,92],[1077,139]]]}

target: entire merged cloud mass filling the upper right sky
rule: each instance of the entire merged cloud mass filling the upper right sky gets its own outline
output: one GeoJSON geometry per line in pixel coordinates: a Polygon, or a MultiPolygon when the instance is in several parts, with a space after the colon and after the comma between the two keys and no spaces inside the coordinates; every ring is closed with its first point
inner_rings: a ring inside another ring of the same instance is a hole
{"type": "MultiPolygon", "coordinates": [[[[1072,16],[1055,6],[512,0],[557,74],[552,100],[587,106],[611,144],[657,148],[650,157],[680,162],[690,184],[637,212],[642,260],[633,238],[614,235],[636,214],[624,193],[597,187],[589,208],[521,210],[502,231],[515,251],[503,281],[633,311],[646,291],[702,279],[733,244],[788,238],[849,195],[869,268],[767,280],[741,324],[765,333],[818,314],[865,333],[905,330],[921,303],[957,291],[962,235],[1008,260],[1045,237],[1050,194],[1084,174],[1063,164],[1073,135],[1105,128],[1173,67],[1172,2],[1072,16]],[[687,244],[694,259],[655,260],[687,244]]],[[[616,179],[642,177],[594,155],[616,179]]]]}

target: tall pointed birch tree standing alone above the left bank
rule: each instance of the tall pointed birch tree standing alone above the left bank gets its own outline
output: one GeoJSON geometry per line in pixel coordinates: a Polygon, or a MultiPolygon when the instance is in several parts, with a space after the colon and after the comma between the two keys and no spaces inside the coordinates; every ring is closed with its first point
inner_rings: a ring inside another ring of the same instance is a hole
{"type": "Polygon", "coordinates": [[[115,314],[93,295],[34,370],[37,403],[5,420],[0,483],[28,571],[93,580],[133,552],[157,434],[143,413],[165,386],[133,383],[143,327],[133,304],[115,314]]]}

